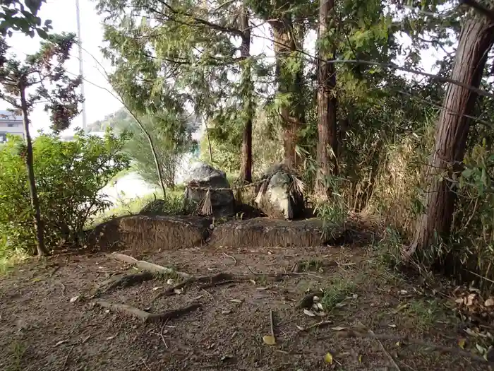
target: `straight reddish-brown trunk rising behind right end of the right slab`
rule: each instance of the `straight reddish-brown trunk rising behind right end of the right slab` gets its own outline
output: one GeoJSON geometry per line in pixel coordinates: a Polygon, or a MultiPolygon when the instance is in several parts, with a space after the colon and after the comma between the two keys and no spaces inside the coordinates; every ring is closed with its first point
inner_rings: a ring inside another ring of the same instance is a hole
{"type": "Polygon", "coordinates": [[[327,177],[337,172],[337,98],[335,95],[336,73],[335,64],[327,63],[332,57],[332,47],[327,42],[321,42],[327,37],[330,11],[335,6],[335,0],[320,0],[318,27],[318,174],[315,179],[315,195],[320,200],[330,196],[327,177]]]}

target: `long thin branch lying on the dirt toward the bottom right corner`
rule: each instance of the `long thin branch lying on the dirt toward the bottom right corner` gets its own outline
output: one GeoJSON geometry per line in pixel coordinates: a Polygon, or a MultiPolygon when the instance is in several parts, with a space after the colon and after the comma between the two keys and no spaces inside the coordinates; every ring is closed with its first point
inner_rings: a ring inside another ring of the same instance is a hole
{"type": "MultiPolygon", "coordinates": [[[[441,353],[452,353],[459,355],[461,357],[469,358],[471,360],[474,360],[476,362],[480,363],[485,363],[488,365],[494,365],[493,361],[486,360],[485,358],[481,357],[480,355],[475,355],[473,353],[470,353],[468,351],[464,351],[459,348],[450,348],[447,346],[441,346],[438,344],[433,344],[433,343],[427,343],[425,341],[420,341],[416,340],[414,338],[407,338],[407,337],[400,337],[400,336],[392,336],[392,335],[387,335],[387,334],[375,334],[374,332],[372,333],[363,333],[359,331],[354,331],[354,330],[347,330],[347,331],[338,331],[337,336],[339,337],[347,337],[347,338],[374,338],[378,340],[390,340],[390,341],[400,341],[404,344],[414,344],[416,346],[423,346],[424,348],[428,348],[429,351],[440,351],[441,353]]],[[[327,336],[321,337],[326,338],[327,336]]]]}

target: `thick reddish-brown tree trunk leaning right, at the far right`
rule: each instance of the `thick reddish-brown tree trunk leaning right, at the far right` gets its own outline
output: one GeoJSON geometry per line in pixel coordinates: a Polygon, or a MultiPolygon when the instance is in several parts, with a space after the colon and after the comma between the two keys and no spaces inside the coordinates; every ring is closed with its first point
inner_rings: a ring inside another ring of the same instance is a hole
{"type": "MultiPolygon", "coordinates": [[[[472,17],[465,21],[459,35],[459,43],[451,78],[478,88],[481,83],[486,58],[494,42],[493,20],[472,17]]],[[[453,172],[462,170],[462,161],[469,133],[470,115],[474,110],[477,94],[449,83],[435,132],[435,148],[427,170],[429,183],[426,196],[426,213],[418,220],[414,241],[404,252],[404,258],[426,250],[439,237],[448,237],[451,229],[456,193],[450,182],[453,172]]],[[[432,263],[428,261],[427,263],[432,263]]]]}

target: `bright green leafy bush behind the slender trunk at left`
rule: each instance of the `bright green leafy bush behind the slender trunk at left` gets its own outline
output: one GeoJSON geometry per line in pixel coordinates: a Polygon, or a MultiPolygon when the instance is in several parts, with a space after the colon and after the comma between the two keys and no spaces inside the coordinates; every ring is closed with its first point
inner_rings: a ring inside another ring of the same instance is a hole
{"type": "MultiPolygon", "coordinates": [[[[73,141],[47,134],[35,139],[35,177],[47,247],[81,242],[88,219],[109,207],[100,191],[129,167],[130,160],[122,153],[127,139],[126,134],[117,137],[111,131],[104,138],[78,131],[73,141]]],[[[24,147],[13,136],[0,148],[0,235],[5,236],[4,248],[34,252],[24,147]]]]}

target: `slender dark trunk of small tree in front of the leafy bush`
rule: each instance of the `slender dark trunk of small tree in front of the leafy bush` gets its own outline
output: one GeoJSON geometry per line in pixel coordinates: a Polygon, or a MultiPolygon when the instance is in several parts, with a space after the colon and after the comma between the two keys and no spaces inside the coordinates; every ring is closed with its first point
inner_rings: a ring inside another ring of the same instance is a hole
{"type": "Polygon", "coordinates": [[[47,247],[44,246],[44,228],[41,218],[40,200],[37,197],[34,161],[32,159],[32,141],[29,133],[28,103],[25,100],[25,86],[20,86],[20,109],[23,111],[24,136],[26,144],[25,166],[28,170],[29,192],[31,196],[31,206],[35,211],[35,231],[37,242],[37,254],[43,257],[48,254],[47,247]]]}

